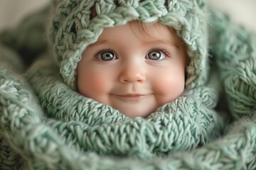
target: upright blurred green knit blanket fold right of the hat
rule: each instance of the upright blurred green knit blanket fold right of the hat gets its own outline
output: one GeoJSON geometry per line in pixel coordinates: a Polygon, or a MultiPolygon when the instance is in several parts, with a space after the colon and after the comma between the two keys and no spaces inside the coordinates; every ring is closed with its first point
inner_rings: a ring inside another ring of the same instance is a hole
{"type": "Polygon", "coordinates": [[[236,119],[255,115],[256,36],[233,24],[218,11],[212,22],[211,41],[228,106],[236,119]],[[215,29],[214,31],[212,31],[215,29]]]}

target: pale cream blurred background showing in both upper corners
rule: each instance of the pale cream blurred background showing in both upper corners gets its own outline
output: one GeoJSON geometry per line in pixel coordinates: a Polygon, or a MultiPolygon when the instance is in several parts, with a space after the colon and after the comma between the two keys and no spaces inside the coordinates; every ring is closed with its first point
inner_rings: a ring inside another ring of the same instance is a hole
{"type": "MultiPolygon", "coordinates": [[[[0,0],[0,30],[16,26],[31,11],[53,0],[0,0]]],[[[256,0],[209,0],[211,5],[230,13],[233,20],[256,32],[256,0]]]]}

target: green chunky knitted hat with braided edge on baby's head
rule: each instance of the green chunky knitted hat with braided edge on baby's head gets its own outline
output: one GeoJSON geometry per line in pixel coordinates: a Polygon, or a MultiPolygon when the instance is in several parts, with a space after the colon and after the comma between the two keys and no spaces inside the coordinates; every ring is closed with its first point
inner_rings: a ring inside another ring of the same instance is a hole
{"type": "Polygon", "coordinates": [[[50,39],[60,74],[65,83],[75,89],[76,68],[82,52],[97,41],[103,28],[121,26],[129,21],[159,21],[174,28],[187,45],[186,88],[204,84],[207,55],[205,6],[205,0],[55,1],[50,39]]]}

